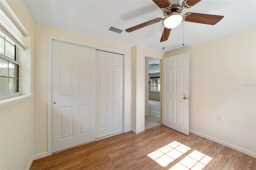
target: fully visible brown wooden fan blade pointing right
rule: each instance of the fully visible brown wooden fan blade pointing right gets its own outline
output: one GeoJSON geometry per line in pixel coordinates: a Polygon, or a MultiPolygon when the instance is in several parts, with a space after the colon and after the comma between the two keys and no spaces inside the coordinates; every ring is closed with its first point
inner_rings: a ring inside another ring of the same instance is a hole
{"type": "MultiPolygon", "coordinates": [[[[186,13],[189,14],[190,12],[186,13]]],[[[188,22],[196,22],[201,24],[215,25],[217,24],[224,16],[219,15],[210,15],[210,14],[198,14],[198,13],[190,13],[185,21],[188,22]]]]}

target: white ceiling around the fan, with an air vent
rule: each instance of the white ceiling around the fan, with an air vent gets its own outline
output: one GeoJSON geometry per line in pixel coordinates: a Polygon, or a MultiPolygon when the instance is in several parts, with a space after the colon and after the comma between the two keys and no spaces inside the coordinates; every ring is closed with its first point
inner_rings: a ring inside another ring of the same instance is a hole
{"type": "Polygon", "coordinates": [[[183,22],[172,29],[163,50],[163,43],[160,43],[162,22],[130,33],[108,30],[110,26],[125,30],[154,18],[164,18],[152,0],[24,0],[24,3],[37,23],[130,47],[140,45],[164,52],[182,47],[177,44],[182,43],[183,38],[188,46],[256,26],[256,0],[202,0],[182,12],[223,15],[224,18],[214,26],[183,22]]]}

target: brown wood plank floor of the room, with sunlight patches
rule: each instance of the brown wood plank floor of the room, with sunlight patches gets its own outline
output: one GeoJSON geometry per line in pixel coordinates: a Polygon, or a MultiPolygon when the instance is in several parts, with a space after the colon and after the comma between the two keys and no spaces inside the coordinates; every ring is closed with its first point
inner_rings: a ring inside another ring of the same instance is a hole
{"type": "Polygon", "coordinates": [[[118,134],[34,160],[31,169],[256,170],[256,158],[159,125],[139,134],[118,134]]]}

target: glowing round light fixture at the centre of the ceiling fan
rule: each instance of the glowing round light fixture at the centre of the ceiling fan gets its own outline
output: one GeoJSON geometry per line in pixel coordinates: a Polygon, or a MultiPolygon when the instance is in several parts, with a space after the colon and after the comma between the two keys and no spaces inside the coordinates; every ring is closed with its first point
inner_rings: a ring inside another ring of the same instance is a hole
{"type": "Polygon", "coordinates": [[[185,16],[181,12],[172,12],[163,20],[163,25],[166,28],[172,29],[179,26],[185,20],[185,16]]]}

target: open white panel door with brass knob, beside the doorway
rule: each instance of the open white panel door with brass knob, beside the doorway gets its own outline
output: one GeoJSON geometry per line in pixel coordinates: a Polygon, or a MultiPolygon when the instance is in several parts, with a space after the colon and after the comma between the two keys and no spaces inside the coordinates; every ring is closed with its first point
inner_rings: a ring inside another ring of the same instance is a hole
{"type": "Polygon", "coordinates": [[[162,125],[188,135],[188,53],[163,59],[162,125]]]}

